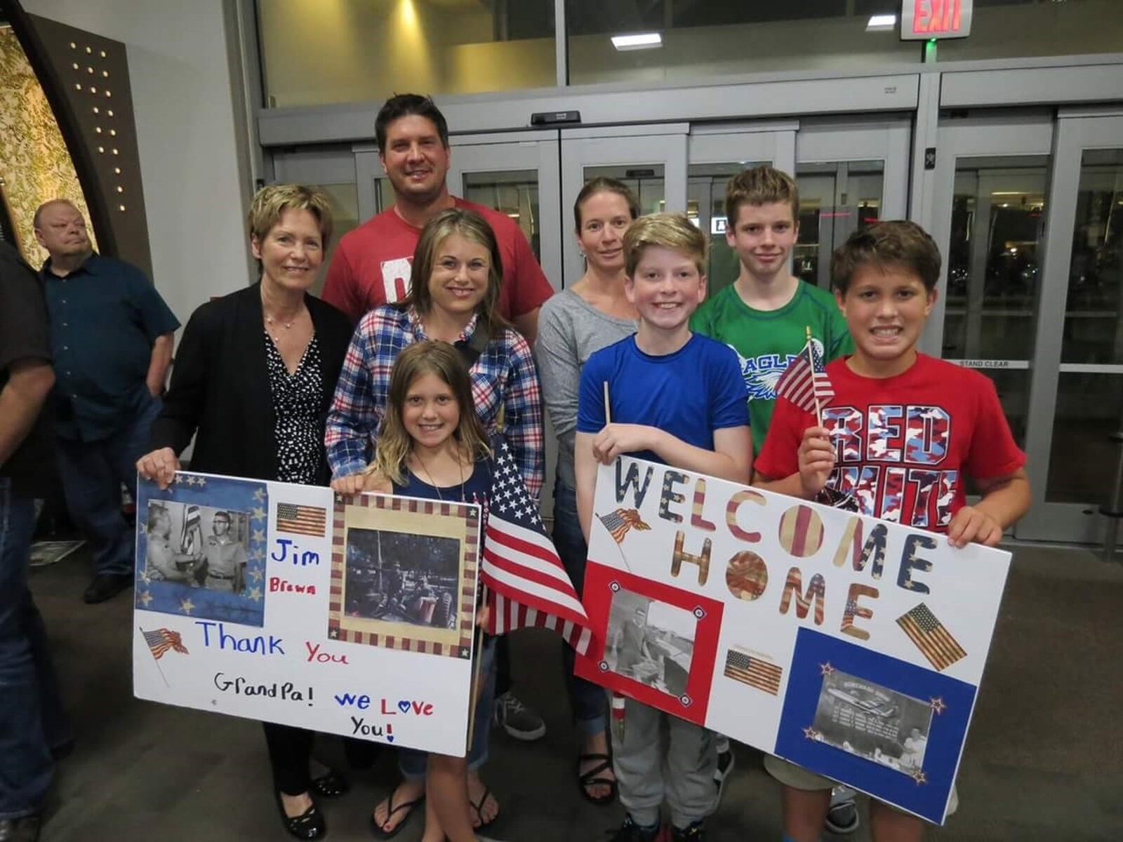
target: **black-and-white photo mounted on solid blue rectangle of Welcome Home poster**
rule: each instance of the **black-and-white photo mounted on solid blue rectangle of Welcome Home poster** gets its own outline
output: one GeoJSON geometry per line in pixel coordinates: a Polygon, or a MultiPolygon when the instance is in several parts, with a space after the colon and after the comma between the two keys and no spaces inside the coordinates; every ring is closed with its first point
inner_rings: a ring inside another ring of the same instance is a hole
{"type": "Polygon", "coordinates": [[[930,703],[837,669],[825,672],[815,739],[905,775],[923,769],[930,703]]]}

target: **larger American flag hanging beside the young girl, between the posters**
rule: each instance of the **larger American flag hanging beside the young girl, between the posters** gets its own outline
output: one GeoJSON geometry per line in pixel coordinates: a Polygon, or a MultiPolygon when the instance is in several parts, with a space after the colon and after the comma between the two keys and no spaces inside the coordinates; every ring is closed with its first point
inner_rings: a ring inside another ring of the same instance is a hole
{"type": "Polygon", "coordinates": [[[538,504],[499,441],[480,579],[487,586],[489,633],[537,625],[553,629],[581,655],[588,649],[593,634],[585,607],[546,536],[538,504]]]}

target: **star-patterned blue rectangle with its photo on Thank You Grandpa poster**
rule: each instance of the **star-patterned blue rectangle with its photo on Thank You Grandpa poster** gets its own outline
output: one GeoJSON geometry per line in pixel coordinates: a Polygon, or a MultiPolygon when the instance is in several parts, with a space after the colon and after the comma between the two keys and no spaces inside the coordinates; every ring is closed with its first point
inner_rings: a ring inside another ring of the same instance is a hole
{"type": "Polygon", "coordinates": [[[268,491],[257,479],[177,473],[137,482],[136,606],[265,624],[268,491]]]}

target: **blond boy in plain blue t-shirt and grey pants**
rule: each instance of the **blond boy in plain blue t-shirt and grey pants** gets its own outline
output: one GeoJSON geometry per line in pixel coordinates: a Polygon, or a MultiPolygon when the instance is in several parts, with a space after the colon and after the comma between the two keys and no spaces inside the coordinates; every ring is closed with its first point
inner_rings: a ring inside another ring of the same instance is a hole
{"type": "MultiPolygon", "coordinates": [[[[586,541],[597,463],[627,454],[736,483],[748,483],[752,463],[737,354],[690,330],[705,295],[705,236],[681,213],[656,213],[631,223],[623,249],[624,293],[639,312],[639,330],[593,354],[581,375],[574,463],[586,541]]],[[[664,797],[673,839],[702,842],[716,795],[714,734],[633,699],[624,720],[612,753],[628,815],[613,842],[655,840],[664,797]]]]}

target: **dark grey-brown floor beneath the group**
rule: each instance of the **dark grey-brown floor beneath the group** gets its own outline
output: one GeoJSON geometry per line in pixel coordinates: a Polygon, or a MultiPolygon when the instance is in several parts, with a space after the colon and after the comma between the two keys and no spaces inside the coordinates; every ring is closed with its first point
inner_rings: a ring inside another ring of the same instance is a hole
{"type": "MultiPolygon", "coordinates": [[[[131,605],[127,595],[86,606],[81,556],[33,573],[55,643],[77,748],[62,765],[44,832],[48,842],[88,840],[282,840],[256,723],[138,702],[130,695],[131,605]]],[[[574,744],[556,641],[513,641],[520,694],[547,717],[531,744],[495,736],[485,779],[503,817],[491,831],[511,842],[603,840],[619,806],[577,794],[574,744]]],[[[929,838],[1123,839],[1123,565],[1090,552],[1015,552],[1002,620],[960,770],[961,807],[929,838]]],[[[323,754],[339,754],[325,741],[323,754]]],[[[760,756],[738,747],[738,769],[711,821],[711,840],[779,840],[778,788],[760,756]]],[[[369,839],[367,813],[392,785],[392,758],[353,775],[327,804],[330,839],[369,839]]],[[[398,839],[416,842],[414,821],[398,839]]],[[[865,827],[850,840],[866,840],[865,827]]]]}

